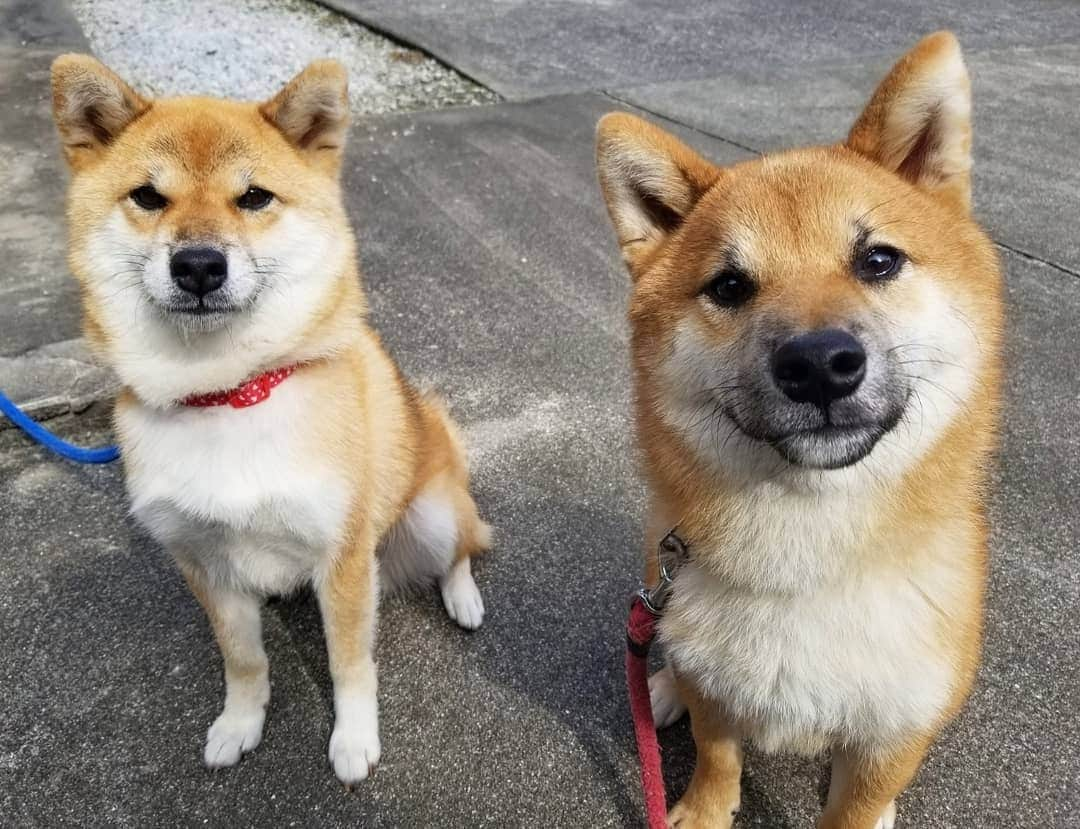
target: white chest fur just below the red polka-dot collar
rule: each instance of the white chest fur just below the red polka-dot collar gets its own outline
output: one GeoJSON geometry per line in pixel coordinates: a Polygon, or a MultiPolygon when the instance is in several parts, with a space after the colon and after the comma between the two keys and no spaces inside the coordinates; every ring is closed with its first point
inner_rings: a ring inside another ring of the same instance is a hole
{"type": "Polygon", "coordinates": [[[136,520],[219,583],[259,593],[315,575],[340,538],[348,481],[311,451],[303,378],[242,409],[118,410],[136,520]]]}

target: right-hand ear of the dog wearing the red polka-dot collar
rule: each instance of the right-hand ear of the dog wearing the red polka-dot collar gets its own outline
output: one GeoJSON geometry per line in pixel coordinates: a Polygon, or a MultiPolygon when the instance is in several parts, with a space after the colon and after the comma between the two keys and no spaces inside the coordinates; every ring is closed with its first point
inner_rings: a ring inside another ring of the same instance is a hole
{"type": "Polygon", "coordinates": [[[336,167],[349,128],[349,76],[337,60],[316,60],[259,112],[298,150],[336,167]]]}

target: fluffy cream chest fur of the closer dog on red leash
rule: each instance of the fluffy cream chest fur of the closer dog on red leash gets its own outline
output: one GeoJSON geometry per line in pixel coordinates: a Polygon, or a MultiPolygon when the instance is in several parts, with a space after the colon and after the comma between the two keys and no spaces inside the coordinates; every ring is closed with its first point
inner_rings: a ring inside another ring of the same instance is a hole
{"type": "Polygon", "coordinates": [[[692,562],[679,572],[661,624],[676,671],[764,750],[873,750],[934,725],[955,681],[941,647],[942,614],[963,583],[950,571],[948,551],[914,568],[860,562],[836,543],[842,533],[833,528],[818,536],[825,543],[814,556],[808,528],[784,527],[766,508],[747,509],[739,524],[755,515],[768,526],[740,526],[738,533],[747,540],[737,553],[745,567],[733,569],[746,582],[692,562]],[[769,547],[755,548],[762,541],[769,547]],[[769,571],[793,570],[801,586],[786,575],[769,583],[769,571]]]}

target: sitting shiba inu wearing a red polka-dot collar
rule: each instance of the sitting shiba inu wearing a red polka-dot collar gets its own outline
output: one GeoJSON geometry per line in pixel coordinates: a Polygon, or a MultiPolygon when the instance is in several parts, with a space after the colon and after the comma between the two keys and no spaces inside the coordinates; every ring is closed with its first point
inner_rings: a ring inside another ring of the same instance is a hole
{"type": "Polygon", "coordinates": [[[57,58],[52,82],[70,263],[86,336],[124,384],[133,513],[175,557],[225,663],[205,762],[258,745],[260,602],[311,583],[330,763],[361,780],[380,753],[379,582],[437,580],[449,615],[475,628],[470,558],[489,528],[445,408],[366,322],[338,186],[345,70],[312,64],[264,104],[148,100],[84,55],[57,58]]]}

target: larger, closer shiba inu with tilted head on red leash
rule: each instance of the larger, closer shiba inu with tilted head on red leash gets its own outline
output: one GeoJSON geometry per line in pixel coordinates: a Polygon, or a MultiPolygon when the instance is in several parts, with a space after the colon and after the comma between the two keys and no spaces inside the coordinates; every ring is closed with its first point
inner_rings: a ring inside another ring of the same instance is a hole
{"type": "Polygon", "coordinates": [[[820,825],[892,827],[971,687],[998,411],[1001,278],[971,217],[956,39],[922,40],[847,139],[720,168],[640,119],[598,127],[633,278],[660,621],[660,725],[697,766],[670,812],[728,827],[741,743],[832,751],[820,825]]]}

